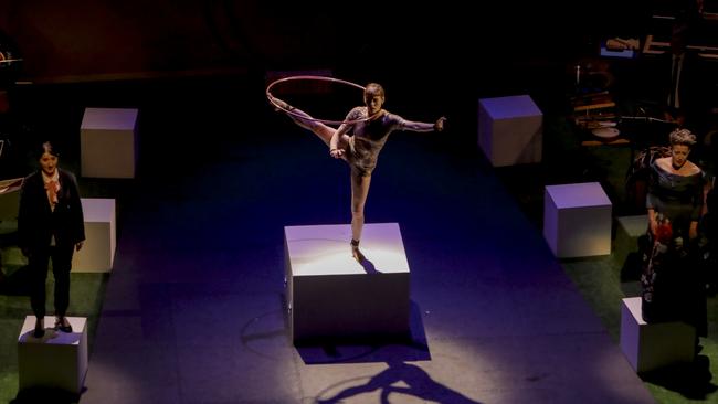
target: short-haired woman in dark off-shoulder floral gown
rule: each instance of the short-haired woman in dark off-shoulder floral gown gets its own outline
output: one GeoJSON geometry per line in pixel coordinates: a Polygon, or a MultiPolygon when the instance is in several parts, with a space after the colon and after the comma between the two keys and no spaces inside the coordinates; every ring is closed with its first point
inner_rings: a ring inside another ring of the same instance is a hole
{"type": "Polygon", "coordinates": [[[688,160],[695,142],[689,130],[674,130],[671,156],[651,166],[646,198],[650,243],[641,283],[646,322],[685,321],[705,337],[706,293],[696,254],[704,172],[688,160]]]}

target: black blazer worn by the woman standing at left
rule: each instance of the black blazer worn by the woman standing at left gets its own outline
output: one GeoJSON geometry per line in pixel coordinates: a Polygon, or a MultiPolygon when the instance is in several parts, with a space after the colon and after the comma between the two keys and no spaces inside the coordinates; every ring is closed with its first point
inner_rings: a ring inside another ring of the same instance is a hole
{"type": "Polygon", "coordinates": [[[85,220],[77,180],[70,171],[60,168],[57,171],[60,192],[54,212],[47,202],[42,171],[38,170],[28,176],[22,184],[18,244],[23,251],[49,246],[53,234],[56,245],[74,245],[85,240],[85,220]]]}

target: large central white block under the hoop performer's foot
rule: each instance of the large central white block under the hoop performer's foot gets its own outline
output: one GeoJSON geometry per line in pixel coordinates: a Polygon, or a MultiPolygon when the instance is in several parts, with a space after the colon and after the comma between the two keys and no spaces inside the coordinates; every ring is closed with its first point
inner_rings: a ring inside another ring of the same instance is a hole
{"type": "Polygon", "coordinates": [[[365,225],[363,266],[351,256],[348,224],[287,226],[284,233],[295,343],[409,333],[409,263],[399,224],[365,225]]]}

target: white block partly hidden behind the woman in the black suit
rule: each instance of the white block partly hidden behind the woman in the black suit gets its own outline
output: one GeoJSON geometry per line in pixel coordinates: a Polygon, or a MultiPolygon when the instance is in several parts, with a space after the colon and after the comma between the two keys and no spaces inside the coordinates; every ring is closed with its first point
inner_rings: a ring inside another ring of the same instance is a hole
{"type": "Polygon", "coordinates": [[[76,273],[106,273],[115,261],[115,200],[83,198],[85,216],[85,243],[72,257],[72,270],[76,273]]]}

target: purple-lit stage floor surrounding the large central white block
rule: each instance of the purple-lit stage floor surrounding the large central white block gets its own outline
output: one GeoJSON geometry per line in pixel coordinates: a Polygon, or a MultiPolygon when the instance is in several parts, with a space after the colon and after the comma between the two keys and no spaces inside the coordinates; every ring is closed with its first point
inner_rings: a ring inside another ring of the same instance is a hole
{"type": "Polygon", "coordinates": [[[366,210],[401,226],[412,341],[295,348],[284,227],[348,223],[347,167],[271,111],[151,113],[82,403],[654,402],[486,160],[436,134],[391,136],[366,210]]]}

